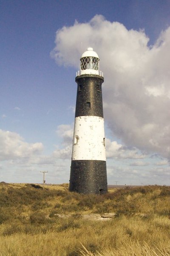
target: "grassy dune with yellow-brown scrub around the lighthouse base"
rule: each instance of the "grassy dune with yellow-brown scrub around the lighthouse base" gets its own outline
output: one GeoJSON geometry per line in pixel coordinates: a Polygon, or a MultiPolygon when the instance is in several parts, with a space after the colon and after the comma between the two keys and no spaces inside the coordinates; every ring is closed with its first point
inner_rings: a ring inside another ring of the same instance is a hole
{"type": "Polygon", "coordinates": [[[68,184],[0,183],[0,256],[33,255],[170,255],[170,187],[79,195],[68,184]],[[114,218],[94,218],[106,212],[114,218]]]}

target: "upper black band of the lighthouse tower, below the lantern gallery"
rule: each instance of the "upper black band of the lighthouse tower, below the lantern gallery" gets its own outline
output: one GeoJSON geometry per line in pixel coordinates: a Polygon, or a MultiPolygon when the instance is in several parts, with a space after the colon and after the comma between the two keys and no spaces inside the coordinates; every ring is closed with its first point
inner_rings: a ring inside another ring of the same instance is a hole
{"type": "Polygon", "coordinates": [[[102,83],[104,78],[98,75],[80,75],[77,82],[77,116],[100,116],[103,117],[102,83]]]}

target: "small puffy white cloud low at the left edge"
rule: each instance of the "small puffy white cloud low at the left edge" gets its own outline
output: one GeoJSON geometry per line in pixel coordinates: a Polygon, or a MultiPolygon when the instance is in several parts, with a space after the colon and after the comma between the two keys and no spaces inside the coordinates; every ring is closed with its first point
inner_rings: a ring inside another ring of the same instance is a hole
{"type": "Polygon", "coordinates": [[[0,130],[0,160],[30,158],[42,150],[42,143],[26,143],[19,134],[0,130]]]}

